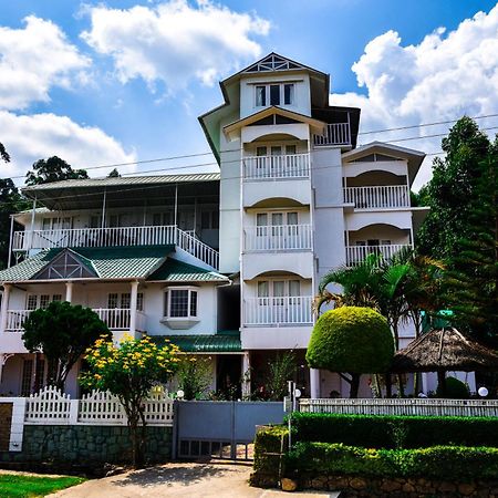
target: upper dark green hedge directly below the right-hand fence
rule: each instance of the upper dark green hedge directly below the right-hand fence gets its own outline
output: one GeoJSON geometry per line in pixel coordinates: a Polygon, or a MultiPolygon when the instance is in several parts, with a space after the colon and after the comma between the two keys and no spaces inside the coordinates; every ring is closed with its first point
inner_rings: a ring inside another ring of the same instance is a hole
{"type": "Polygon", "coordinates": [[[292,433],[295,442],[343,443],[365,448],[498,447],[498,417],[294,413],[292,433]]]}

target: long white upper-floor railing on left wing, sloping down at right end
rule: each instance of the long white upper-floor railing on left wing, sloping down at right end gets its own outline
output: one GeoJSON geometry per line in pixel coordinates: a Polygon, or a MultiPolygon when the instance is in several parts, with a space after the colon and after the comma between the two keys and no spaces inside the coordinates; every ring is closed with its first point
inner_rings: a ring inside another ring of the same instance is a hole
{"type": "Polygon", "coordinates": [[[174,225],[17,231],[12,239],[12,250],[167,243],[176,243],[210,267],[218,268],[218,252],[215,249],[174,225]]]}

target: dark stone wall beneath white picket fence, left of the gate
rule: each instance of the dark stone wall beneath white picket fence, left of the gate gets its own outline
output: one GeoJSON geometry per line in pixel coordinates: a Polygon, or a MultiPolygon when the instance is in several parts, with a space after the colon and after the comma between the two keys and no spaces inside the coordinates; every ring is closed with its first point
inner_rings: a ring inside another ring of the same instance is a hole
{"type": "MultiPolygon", "coordinates": [[[[172,458],[172,427],[146,427],[145,458],[172,458]]],[[[125,464],[131,461],[127,427],[97,425],[24,425],[22,452],[0,452],[0,463],[53,461],[64,465],[125,464]]]]}

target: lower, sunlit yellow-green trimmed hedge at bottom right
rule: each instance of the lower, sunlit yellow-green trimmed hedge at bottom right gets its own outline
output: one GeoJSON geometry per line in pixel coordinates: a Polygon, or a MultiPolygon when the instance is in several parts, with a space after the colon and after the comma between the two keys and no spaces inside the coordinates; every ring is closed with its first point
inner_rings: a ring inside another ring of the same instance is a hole
{"type": "Polygon", "coordinates": [[[498,448],[433,446],[367,449],[342,444],[298,443],[284,458],[286,474],[424,477],[461,481],[498,476],[498,448]]]}

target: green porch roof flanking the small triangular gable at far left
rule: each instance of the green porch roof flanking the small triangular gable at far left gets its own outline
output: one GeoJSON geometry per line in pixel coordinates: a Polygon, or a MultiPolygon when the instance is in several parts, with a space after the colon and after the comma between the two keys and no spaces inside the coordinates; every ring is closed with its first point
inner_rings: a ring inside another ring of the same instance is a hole
{"type": "Polygon", "coordinates": [[[0,271],[0,282],[31,280],[63,250],[71,251],[81,263],[101,279],[143,279],[154,272],[175,250],[175,246],[95,247],[49,249],[0,271]]]}

